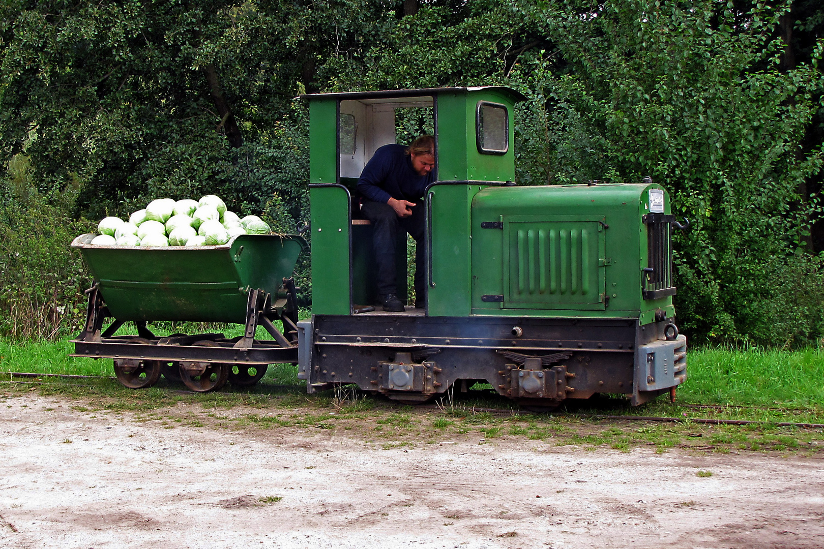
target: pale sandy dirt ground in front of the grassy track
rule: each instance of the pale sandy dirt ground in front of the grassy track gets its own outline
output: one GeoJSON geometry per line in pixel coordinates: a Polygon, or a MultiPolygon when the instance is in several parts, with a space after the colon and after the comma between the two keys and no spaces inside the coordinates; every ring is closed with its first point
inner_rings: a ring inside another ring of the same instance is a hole
{"type": "Polygon", "coordinates": [[[824,547],[817,456],[480,435],[385,449],[76,406],[0,405],[0,547],[824,547]]]}

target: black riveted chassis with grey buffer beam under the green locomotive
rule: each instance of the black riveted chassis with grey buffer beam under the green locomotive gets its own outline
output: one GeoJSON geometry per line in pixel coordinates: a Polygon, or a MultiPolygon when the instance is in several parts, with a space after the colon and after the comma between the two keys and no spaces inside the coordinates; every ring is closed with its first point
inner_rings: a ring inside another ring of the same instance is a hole
{"type": "Polygon", "coordinates": [[[669,325],[672,319],[641,326],[638,319],[315,315],[298,324],[298,377],[309,393],[356,384],[402,402],[481,381],[527,405],[594,393],[624,393],[638,405],[686,379],[686,339],[669,325]]]}

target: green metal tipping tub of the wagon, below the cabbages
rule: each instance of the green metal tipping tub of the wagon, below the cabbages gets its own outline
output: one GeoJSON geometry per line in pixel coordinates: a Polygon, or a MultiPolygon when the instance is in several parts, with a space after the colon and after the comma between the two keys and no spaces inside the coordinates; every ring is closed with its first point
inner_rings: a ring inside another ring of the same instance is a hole
{"type": "Polygon", "coordinates": [[[111,316],[119,321],[246,323],[247,295],[277,295],[306,241],[297,235],[239,235],[222,246],[79,249],[111,316]]]}

